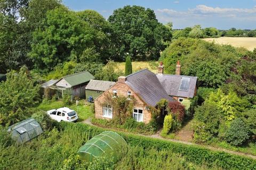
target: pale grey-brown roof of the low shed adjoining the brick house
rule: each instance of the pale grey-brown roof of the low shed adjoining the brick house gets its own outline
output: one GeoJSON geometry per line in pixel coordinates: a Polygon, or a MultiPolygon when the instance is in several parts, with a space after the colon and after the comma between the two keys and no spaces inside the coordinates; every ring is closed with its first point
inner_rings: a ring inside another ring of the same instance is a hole
{"type": "Polygon", "coordinates": [[[102,80],[90,80],[85,87],[86,90],[97,90],[106,91],[108,88],[113,86],[116,82],[113,81],[102,81],[102,80]]]}

